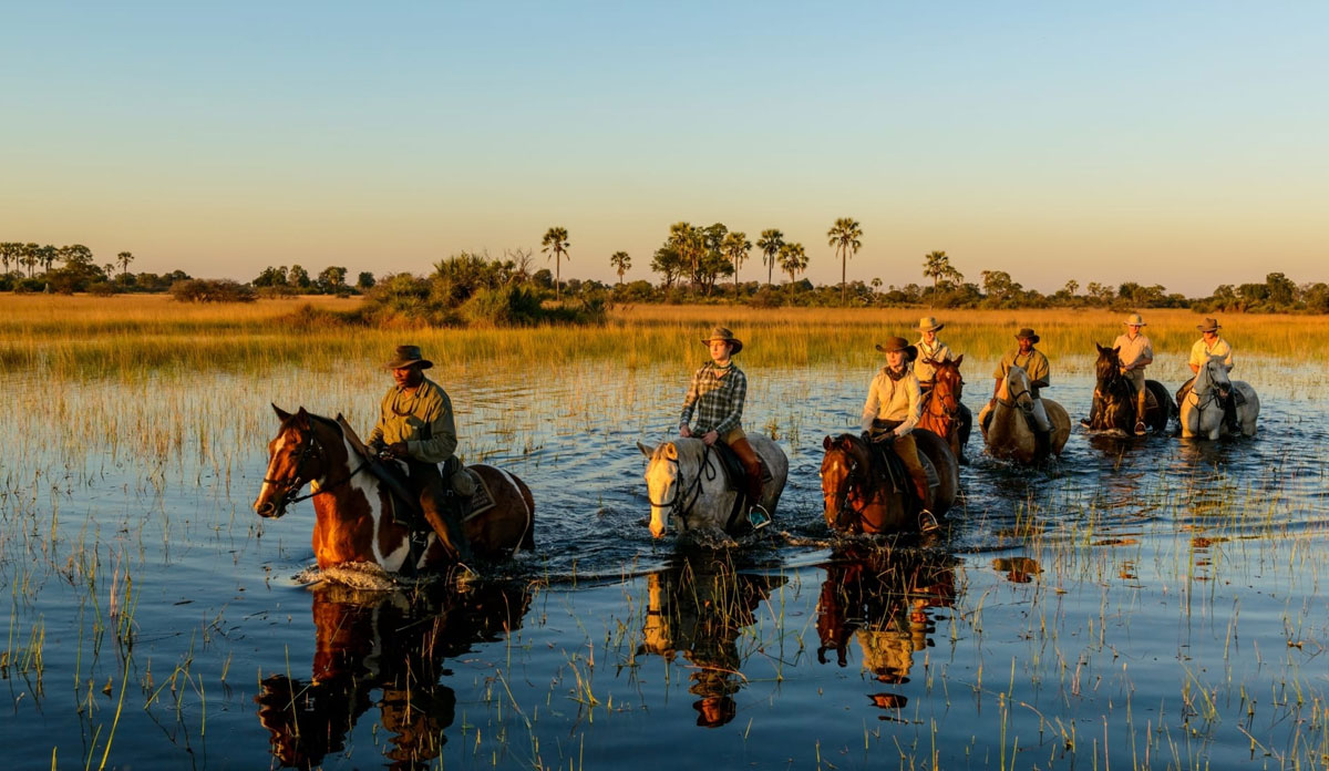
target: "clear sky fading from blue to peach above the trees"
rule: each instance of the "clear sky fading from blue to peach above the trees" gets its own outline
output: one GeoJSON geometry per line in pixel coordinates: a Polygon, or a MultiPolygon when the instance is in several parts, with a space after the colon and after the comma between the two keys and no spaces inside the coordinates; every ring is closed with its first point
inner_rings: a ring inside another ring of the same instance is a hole
{"type": "MultiPolygon", "coordinates": [[[[0,241],[249,280],[776,227],[852,279],[1329,280],[1324,3],[0,5],[0,241]]],[[[760,255],[742,278],[764,276],[760,255]]]]}

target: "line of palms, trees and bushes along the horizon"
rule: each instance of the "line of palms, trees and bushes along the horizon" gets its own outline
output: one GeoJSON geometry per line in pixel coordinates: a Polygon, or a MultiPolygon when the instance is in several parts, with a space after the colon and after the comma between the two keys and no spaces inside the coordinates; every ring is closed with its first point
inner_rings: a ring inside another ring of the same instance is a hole
{"type": "MultiPolygon", "coordinates": [[[[1069,280],[1053,292],[1023,287],[1003,270],[983,270],[977,280],[954,267],[945,251],[921,255],[922,283],[884,284],[880,278],[868,282],[849,280],[848,263],[863,247],[863,226],[852,217],[837,218],[827,231],[827,246],[840,262],[840,283],[815,286],[807,278],[808,250],[801,242],[789,241],[779,229],[763,230],[754,242],[743,231],[724,223],[698,226],[690,222],[670,225],[661,245],[650,255],[647,267],[655,280],[627,280],[634,263],[627,251],[614,251],[607,259],[618,276],[617,283],[563,279],[562,265],[573,255],[566,227],[554,226],[541,239],[541,253],[552,263],[536,267],[536,253],[528,249],[505,250],[502,257],[489,253],[461,253],[435,263],[427,276],[413,276],[428,286],[443,280],[452,299],[470,296],[474,291],[496,287],[518,287],[534,303],[569,300],[579,303],[744,303],[759,307],[779,306],[851,306],[890,307],[928,306],[938,308],[1021,308],[1021,307],[1189,307],[1199,311],[1225,312],[1329,312],[1329,286],[1324,282],[1296,283],[1282,273],[1271,273],[1264,282],[1220,284],[1207,296],[1188,298],[1170,292],[1162,284],[1124,282],[1107,284],[1090,282],[1080,286],[1069,280]],[[754,253],[755,250],[755,253],[754,253]],[[743,266],[760,259],[766,280],[742,280],[743,266]],[[480,267],[484,266],[484,267],[480,267]],[[776,280],[776,269],[780,279],[776,280]],[[468,286],[469,284],[469,286],[468,286]]],[[[249,282],[194,279],[181,270],[167,274],[130,273],[134,255],[121,251],[116,259],[98,265],[92,250],[82,245],[41,246],[31,242],[0,243],[0,291],[90,291],[162,292],[173,291],[181,299],[249,299],[264,296],[373,295],[387,279],[399,284],[408,274],[359,273],[354,282],[342,266],[327,266],[311,274],[299,265],[268,266],[249,282]],[[58,263],[58,265],[57,265],[58,263]],[[199,283],[203,280],[205,283],[199,283]]],[[[411,278],[411,276],[408,276],[411,278]]],[[[380,292],[381,294],[381,292],[380,292]]],[[[449,300],[451,302],[451,300],[449,300]]],[[[447,303],[444,303],[447,304],[447,303]]]]}

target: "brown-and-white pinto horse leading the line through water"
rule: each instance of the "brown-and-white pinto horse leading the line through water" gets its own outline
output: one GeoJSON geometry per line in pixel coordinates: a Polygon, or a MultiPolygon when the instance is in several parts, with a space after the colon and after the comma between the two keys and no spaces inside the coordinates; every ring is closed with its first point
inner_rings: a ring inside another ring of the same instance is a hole
{"type": "MultiPolygon", "coordinates": [[[[254,501],[255,513],[278,518],[290,504],[312,498],[314,553],[323,570],[350,562],[368,562],[389,573],[449,565],[452,558],[432,530],[412,556],[412,529],[395,516],[400,504],[389,485],[368,472],[368,451],[346,419],[338,415],[330,420],[303,407],[294,415],[275,404],[272,409],[282,425],[267,447],[267,475],[254,501]],[[312,492],[299,496],[306,483],[312,492]]],[[[530,488],[492,465],[466,468],[478,484],[473,513],[461,529],[476,556],[496,558],[534,549],[530,488]]]]}

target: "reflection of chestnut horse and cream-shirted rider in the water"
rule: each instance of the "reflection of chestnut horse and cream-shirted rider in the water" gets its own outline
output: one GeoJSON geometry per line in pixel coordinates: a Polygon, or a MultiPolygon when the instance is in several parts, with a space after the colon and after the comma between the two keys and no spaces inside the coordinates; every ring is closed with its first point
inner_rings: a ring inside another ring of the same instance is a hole
{"type": "MultiPolygon", "coordinates": [[[[859,643],[863,669],[877,683],[909,682],[914,654],[933,645],[933,607],[956,600],[954,560],[949,554],[848,546],[836,549],[825,566],[817,600],[817,661],[847,666],[849,639],[859,643]]],[[[902,709],[909,698],[896,691],[868,694],[873,706],[902,709]]],[[[881,715],[880,719],[894,719],[881,715]]]]}

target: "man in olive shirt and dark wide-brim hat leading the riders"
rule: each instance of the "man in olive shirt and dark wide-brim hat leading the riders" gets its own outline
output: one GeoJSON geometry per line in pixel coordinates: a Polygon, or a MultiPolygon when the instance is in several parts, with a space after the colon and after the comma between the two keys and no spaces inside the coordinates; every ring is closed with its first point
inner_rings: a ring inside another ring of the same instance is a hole
{"type": "Polygon", "coordinates": [[[401,460],[407,465],[407,487],[419,496],[425,520],[439,534],[453,558],[472,562],[470,544],[461,530],[461,517],[449,505],[448,488],[439,464],[457,451],[457,427],[452,399],[437,383],[424,376],[433,362],[420,346],[397,346],[384,364],[396,386],[388,389],[379,409],[379,421],[365,443],[375,455],[401,460]]]}

